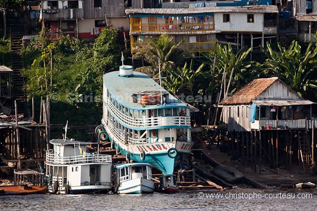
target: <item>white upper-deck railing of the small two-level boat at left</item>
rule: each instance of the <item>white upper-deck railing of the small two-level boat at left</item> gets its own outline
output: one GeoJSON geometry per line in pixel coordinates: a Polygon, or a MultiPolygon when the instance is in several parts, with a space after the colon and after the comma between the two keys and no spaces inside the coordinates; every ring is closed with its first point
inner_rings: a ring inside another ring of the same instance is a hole
{"type": "Polygon", "coordinates": [[[51,165],[73,165],[77,163],[93,163],[106,162],[112,163],[111,155],[85,154],[70,157],[61,157],[59,154],[54,154],[53,150],[47,150],[46,163],[51,165]]]}

